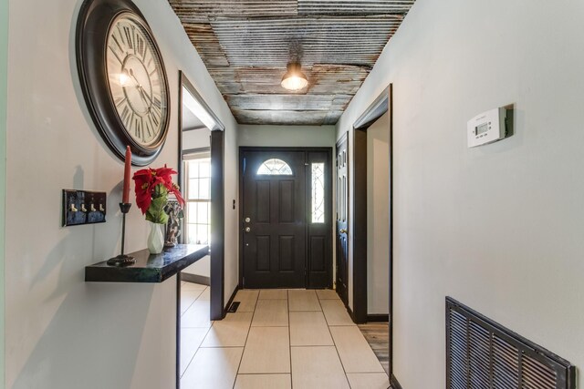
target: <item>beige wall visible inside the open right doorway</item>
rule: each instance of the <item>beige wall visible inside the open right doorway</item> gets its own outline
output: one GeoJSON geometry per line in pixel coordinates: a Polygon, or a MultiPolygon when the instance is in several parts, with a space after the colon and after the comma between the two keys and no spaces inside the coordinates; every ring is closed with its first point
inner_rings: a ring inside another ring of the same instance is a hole
{"type": "Polygon", "coordinates": [[[367,128],[367,313],[390,308],[390,115],[367,128]]]}

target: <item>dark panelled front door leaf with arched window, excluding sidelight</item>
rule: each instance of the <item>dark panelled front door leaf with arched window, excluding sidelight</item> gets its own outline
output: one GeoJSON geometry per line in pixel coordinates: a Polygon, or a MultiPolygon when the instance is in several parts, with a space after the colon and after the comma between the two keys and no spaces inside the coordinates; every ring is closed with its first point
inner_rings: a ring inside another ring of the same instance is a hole
{"type": "Polygon", "coordinates": [[[303,151],[244,151],[245,288],[306,286],[303,151]]]}

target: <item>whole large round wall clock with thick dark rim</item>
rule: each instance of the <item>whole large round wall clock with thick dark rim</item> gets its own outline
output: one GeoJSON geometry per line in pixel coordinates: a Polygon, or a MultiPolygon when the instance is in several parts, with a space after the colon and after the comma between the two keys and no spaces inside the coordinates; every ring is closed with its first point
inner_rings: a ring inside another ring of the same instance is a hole
{"type": "Polygon", "coordinates": [[[162,149],[170,119],[160,49],[130,0],[86,0],[77,26],[81,88],[99,134],[120,159],[145,166],[162,149]]]}

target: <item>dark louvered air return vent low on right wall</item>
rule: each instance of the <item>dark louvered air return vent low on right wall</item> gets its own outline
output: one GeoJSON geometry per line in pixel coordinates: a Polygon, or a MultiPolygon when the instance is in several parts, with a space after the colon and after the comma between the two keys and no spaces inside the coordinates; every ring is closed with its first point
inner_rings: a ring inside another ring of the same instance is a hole
{"type": "Polygon", "coordinates": [[[446,297],[448,389],[575,389],[568,361],[446,297]]]}

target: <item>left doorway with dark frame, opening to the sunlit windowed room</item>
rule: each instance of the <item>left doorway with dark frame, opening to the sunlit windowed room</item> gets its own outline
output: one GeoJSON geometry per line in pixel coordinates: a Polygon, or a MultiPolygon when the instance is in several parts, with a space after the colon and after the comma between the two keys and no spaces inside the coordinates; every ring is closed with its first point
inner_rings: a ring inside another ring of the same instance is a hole
{"type": "MultiPolygon", "coordinates": [[[[222,320],[225,315],[224,125],[183,72],[180,72],[179,78],[178,176],[186,201],[179,241],[208,245],[210,252],[177,277],[177,388],[180,387],[186,365],[190,363],[188,356],[193,356],[192,350],[182,350],[181,347],[184,343],[181,341],[183,314],[188,309],[193,310],[195,301],[201,301],[201,319],[204,322],[222,320]]],[[[188,341],[189,337],[192,334],[186,333],[185,340],[188,341]]]]}

